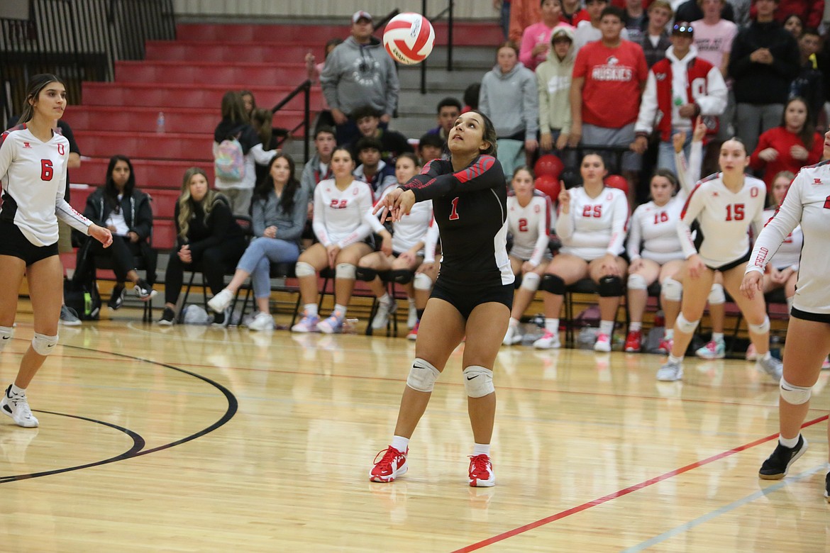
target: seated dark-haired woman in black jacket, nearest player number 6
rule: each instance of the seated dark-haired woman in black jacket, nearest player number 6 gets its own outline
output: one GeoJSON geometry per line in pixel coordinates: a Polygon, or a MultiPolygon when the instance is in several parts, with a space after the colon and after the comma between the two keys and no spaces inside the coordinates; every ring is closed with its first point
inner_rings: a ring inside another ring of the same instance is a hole
{"type": "Polygon", "coordinates": [[[153,233],[153,208],[150,198],[135,187],[133,163],[126,156],[115,155],[107,167],[106,183],[86,198],[84,216],[98,226],[112,232],[112,245],[105,248],[91,236],[84,237],[78,249],[73,280],[93,279],[94,257],[109,257],[115,273],[115,287],[110,296],[110,308],[118,309],[124,303],[125,282],[134,284],[133,291],[142,301],[156,294],[151,283],[155,280],[155,250],[149,243],[153,233]],[[139,277],[135,257],[144,258],[147,279],[139,277]]]}

